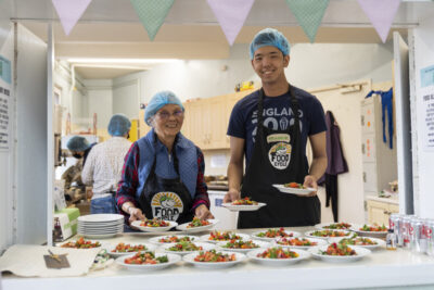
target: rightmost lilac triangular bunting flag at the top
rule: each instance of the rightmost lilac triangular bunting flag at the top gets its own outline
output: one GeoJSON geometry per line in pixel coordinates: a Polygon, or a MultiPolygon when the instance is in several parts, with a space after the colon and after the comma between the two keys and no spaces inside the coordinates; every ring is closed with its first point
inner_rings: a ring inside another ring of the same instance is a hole
{"type": "Polygon", "coordinates": [[[387,39],[393,20],[398,11],[400,0],[357,0],[371,21],[383,43],[387,39]]]}

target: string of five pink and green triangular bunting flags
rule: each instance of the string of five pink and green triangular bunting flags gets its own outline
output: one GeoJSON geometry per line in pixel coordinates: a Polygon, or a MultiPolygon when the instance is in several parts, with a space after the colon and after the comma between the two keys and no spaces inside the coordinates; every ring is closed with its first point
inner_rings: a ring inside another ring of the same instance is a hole
{"type": "MultiPolygon", "coordinates": [[[[1,1],[1,0],[0,0],[1,1]]],[[[66,35],[69,35],[92,0],[52,0],[66,35]]],[[[255,0],[206,0],[230,46],[235,41],[255,0]]],[[[315,41],[318,27],[329,7],[329,0],[282,0],[309,38],[315,41]]],[[[140,22],[154,40],[175,0],[130,0],[140,22]]],[[[357,0],[375,28],[386,41],[400,0],[357,0]]]]}

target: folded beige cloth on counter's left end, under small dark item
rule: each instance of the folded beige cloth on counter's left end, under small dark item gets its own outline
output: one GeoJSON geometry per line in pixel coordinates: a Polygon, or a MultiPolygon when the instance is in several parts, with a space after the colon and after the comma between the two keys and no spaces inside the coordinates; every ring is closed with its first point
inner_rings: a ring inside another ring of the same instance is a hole
{"type": "Polygon", "coordinates": [[[12,272],[23,277],[72,277],[86,275],[101,248],[67,249],[48,245],[14,244],[0,257],[0,272],[12,272]],[[43,255],[67,254],[69,268],[47,268],[43,255]]]}

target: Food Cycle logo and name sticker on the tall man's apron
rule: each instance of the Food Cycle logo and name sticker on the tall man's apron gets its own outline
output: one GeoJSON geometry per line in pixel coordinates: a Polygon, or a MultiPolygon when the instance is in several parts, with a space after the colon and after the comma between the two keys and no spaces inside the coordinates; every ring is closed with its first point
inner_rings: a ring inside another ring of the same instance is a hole
{"type": "Polygon", "coordinates": [[[267,137],[267,142],[273,144],[268,152],[271,165],[277,169],[285,169],[290,165],[292,147],[288,134],[273,134],[267,137]]]}

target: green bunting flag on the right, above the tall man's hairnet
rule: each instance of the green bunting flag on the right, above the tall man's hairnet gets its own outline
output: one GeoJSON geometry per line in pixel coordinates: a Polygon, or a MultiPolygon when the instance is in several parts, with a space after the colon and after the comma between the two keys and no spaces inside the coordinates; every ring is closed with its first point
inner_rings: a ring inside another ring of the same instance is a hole
{"type": "Polygon", "coordinates": [[[286,4],[310,42],[314,42],[329,0],[286,0],[286,4]]]}

